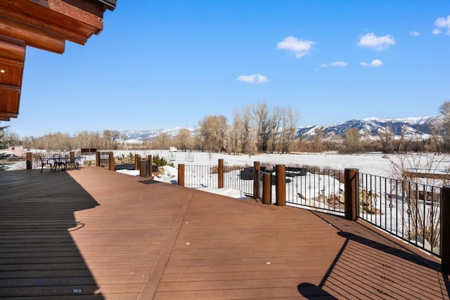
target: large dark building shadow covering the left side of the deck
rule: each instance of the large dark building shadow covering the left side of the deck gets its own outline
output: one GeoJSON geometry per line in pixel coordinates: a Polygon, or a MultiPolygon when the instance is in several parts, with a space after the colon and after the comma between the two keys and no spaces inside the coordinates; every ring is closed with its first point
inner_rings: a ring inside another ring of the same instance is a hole
{"type": "Polygon", "coordinates": [[[98,203],[65,172],[3,171],[0,190],[0,297],[103,299],[71,235],[98,203]]]}

